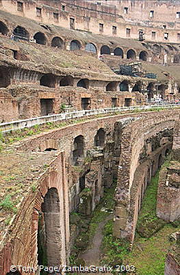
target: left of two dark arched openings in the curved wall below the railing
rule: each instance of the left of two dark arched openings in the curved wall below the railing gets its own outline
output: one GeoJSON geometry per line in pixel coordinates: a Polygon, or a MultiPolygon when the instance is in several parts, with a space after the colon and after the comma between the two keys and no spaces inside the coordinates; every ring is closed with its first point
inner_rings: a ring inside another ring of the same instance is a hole
{"type": "Polygon", "coordinates": [[[73,143],[73,164],[75,166],[79,165],[79,157],[83,157],[83,148],[84,148],[84,138],[83,135],[78,135],[75,137],[74,143],[73,143]]]}

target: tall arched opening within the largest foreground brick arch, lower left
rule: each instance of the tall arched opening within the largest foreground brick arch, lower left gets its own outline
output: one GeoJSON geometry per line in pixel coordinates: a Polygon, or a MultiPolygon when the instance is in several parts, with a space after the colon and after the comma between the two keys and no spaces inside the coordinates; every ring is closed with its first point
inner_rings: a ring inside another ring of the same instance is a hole
{"type": "MultiPolygon", "coordinates": [[[[48,190],[41,208],[44,214],[45,229],[45,247],[44,255],[42,256],[46,255],[48,266],[54,267],[62,263],[60,254],[62,250],[60,198],[56,188],[50,188],[48,190]]],[[[38,264],[42,261],[42,256],[39,257],[38,264]]]]}

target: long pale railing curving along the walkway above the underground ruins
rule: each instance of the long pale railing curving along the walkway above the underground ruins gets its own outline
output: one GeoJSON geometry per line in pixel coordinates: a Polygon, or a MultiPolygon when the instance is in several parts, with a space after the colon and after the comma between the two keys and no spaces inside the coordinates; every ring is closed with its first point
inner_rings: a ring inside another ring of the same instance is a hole
{"type": "MultiPolygon", "coordinates": [[[[47,122],[57,122],[61,120],[71,120],[73,118],[82,118],[89,115],[98,115],[106,113],[115,113],[120,111],[133,111],[133,110],[149,110],[155,108],[175,108],[177,105],[168,104],[165,106],[162,105],[144,105],[144,106],[131,106],[131,107],[114,107],[114,108],[105,108],[105,109],[94,109],[94,110],[83,110],[83,111],[73,111],[70,113],[60,113],[54,115],[46,115],[38,118],[28,118],[26,120],[16,120],[12,122],[3,122],[0,124],[1,133],[7,133],[10,131],[16,131],[24,128],[30,128],[34,125],[40,125],[47,122]]],[[[180,107],[179,107],[180,108],[180,107]]]]}

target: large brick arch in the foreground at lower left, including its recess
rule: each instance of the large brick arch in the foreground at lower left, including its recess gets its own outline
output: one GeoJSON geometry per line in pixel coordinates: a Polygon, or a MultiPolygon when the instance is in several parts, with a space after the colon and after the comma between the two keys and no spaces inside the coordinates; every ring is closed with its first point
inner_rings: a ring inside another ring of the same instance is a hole
{"type": "Polygon", "coordinates": [[[35,265],[37,260],[40,262],[40,257],[38,257],[39,221],[47,237],[47,242],[45,243],[47,264],[49,266],[66,264],[69,221],[68,186],[66,186],[64,171],[64,154],[60,153],[53,162],[52,168],[49,168],[49,171],[42,176],[40,186],[36,191],[34,208],[31,214],[31,259],[34,259],[35,265]],[[51,245],[51,243],[53,243],[53,245],[51,245]]]}

